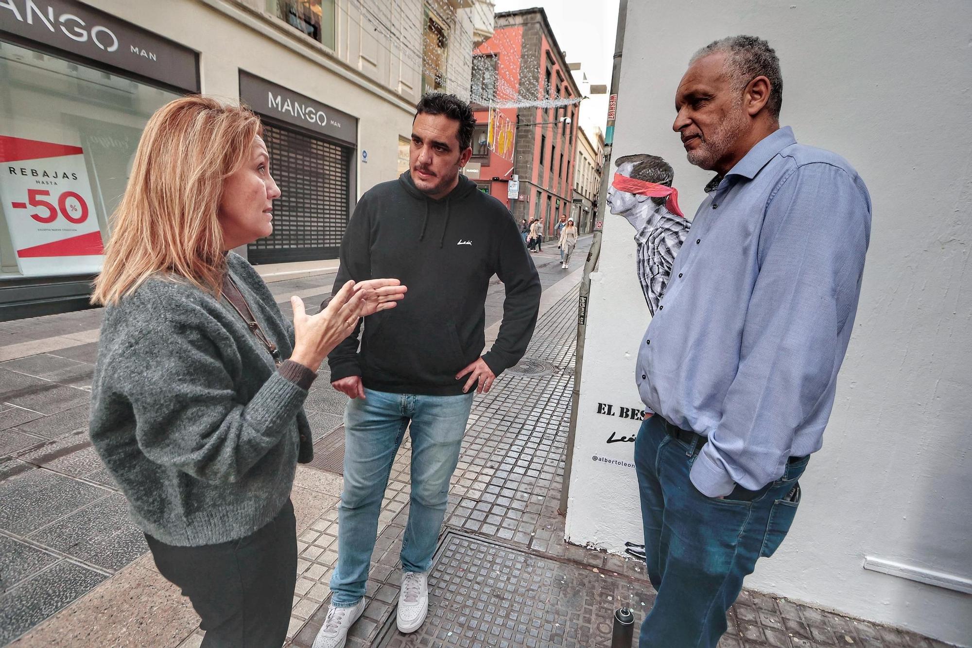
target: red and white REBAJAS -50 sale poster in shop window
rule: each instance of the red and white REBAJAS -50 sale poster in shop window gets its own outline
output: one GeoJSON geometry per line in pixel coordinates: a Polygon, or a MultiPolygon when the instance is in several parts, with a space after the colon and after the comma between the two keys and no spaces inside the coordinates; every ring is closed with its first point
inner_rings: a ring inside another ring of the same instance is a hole
{"type": "Polygon", "coordinates": [[[22,274],[101,270],[84,154],[80,146],[0,135],[0,197],[22,274]]]}

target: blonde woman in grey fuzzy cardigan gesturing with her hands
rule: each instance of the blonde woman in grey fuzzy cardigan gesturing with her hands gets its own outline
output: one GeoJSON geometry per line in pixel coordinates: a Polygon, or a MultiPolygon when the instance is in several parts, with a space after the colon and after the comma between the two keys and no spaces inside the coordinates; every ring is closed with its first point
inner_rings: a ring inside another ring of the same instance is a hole
{"type": "Polygon", "coordinates": [[[279,646],[296,578],[303,413],[330,350],[391,308],[397,280],[349,281],[293,326],[229,252],[272,231],[280,190],[260,120],[205,97],[160,108],[112,219],[92,301],[107,306],[90,436],[159,572],[189,596],[209,647],[279,646]]]}

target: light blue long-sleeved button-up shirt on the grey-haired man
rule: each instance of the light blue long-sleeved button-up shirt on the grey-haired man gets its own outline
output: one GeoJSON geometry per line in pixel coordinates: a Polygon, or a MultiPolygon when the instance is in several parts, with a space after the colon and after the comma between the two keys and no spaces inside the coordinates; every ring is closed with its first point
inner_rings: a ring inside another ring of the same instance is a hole
{"type": "Polygon", "coordinates": [[[864,181],[789,127],[702,202],[636,379],[648,408],[708,437],[691,470],[704,494],[758,489],[820,449],[870,233],[864,181]]]}

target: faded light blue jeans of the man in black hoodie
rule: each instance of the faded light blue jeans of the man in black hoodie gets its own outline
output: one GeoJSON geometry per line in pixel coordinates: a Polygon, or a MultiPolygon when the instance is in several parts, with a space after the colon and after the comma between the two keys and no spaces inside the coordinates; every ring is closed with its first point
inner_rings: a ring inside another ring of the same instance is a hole
{"type": "Polygon", "coordinates": [[[348,403],[344,410],[344,491],[337,510],[337,567],[330,577],[333,605],[351,607],[364,596],[381,501],[409,422],[412,492],[401,543],[401,568],[429,571],[432,567],[473,393],[422,396],[365,389],[364,400],[348,403]]]}

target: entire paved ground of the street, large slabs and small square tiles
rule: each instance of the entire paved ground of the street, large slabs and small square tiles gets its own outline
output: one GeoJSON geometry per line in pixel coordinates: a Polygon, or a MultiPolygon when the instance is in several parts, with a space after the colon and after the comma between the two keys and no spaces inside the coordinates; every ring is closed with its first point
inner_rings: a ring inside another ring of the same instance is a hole
{"type": "MultiPolygon", "coordinates": [[[[537,331],[524,360],[473,404],[430,577],[429,618],[411,635],[394,620],[408,515],[406,437],[383,503],[368,603],[349,646],[608,646],[621,602],[633,603],[636,629],[650,609],[642,563],[565,543],[557,512],[588,243],[572,270],[560,269],[555,248],[534,255],[544,288],[537,331]]],[[[332,280],[325,274],[270,287],[287,312],[290,295],[316,304],[332,280]]],[[[496,282],[487,337],[495,336],[502,304],[496,282]]],[[[100,317],[95,309],[0,323],[0,645],[195,647],[197,618],[157,573],[87,441],[100,317]]],[[[298,466],[292,496],[299,559],[288,645],[299,648],[311,647],[327,612],[345,401],[324,367],[306,402],[316,458],[298,466]]],[[[726,648],[946,645],[748,591],[728,621],[726,648]]]]}

